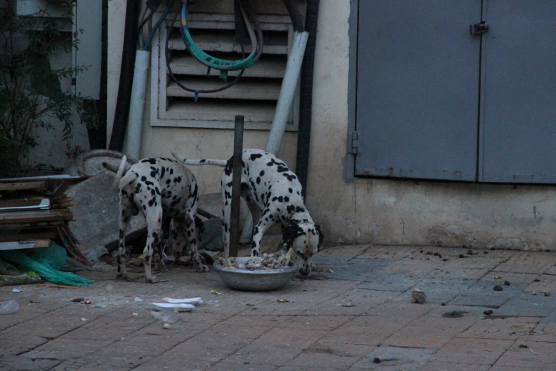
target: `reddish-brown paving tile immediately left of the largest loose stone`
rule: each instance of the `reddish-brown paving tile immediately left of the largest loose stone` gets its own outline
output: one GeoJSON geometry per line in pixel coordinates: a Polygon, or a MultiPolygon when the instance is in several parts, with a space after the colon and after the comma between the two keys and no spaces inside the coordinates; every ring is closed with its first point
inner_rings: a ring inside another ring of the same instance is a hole
{"type": "Polygon", "coordinates": [[[374,291],[353,289],[309,309],[321,315],[358,315],[402,294],[400,291],[374,291]]]}

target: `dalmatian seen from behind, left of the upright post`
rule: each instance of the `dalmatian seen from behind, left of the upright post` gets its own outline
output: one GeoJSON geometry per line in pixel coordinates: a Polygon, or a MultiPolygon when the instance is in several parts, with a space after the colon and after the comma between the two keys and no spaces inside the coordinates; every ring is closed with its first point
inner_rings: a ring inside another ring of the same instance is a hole
{"type": "MultiPolygon", "coordinates": [[[[127,278],[125,266],[125,235],[129,219],[141,212],[146,221],[147,240],[143,250],[145,280],[158,281],[151,274],[151,259],[156,252],[156,270],[164,270],[163,235],[173,225],[173,255],[178,259],[186,245],[191,249],[200,271],[208,271],[197,249],[196,221],[198,187],[195,176],[185,166],[170,158],[144,158],[124,175],[127,158],[119,164],[114,188],[119,190],[119,247],[117,278],[127,278]],[[164,228],[163,228],[164,224],[164,228]]],[[[167,236],[164,236],[167,237],[167,236]]]]}

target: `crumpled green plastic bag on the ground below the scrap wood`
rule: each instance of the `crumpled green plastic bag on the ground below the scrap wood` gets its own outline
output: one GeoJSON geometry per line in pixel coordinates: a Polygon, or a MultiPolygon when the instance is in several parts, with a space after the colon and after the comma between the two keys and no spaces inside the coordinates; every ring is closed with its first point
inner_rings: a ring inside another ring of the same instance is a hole
{"type": "Polygon", "coordinates": [[[42,279],[53,284],[89,286],[94,282],[68,271],[60,271],[59,269],[65,264],[65,249],[54,242],[50,242],[50,247],[30,251],[23,249],[2,251],[0,258],[24,269],[35,271],[42,279]]]}

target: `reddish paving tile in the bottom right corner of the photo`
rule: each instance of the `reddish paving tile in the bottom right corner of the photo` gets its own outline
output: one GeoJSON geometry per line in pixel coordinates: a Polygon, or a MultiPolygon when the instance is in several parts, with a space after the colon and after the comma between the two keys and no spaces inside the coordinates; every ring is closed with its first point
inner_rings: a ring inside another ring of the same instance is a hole
{"type": "Polygon", "coordinates": [[[493,369],[506,370],[506,367],[514,367],[515,370],[554,370],[555,364],[556,343],[516,341],[494,363],[493,369]],[[526,348],[523,348],[523,346],[526,348]]]}

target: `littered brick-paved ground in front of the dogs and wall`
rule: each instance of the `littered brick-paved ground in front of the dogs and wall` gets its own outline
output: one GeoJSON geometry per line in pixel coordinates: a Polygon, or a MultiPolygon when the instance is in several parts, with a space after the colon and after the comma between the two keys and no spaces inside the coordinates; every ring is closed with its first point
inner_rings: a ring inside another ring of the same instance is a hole
{"type": "Polygon", "coordinates": [[[556,254],[476,252],[329,247],[324,272],[264,293],[189,267],[160,284],[84,272],[82,290],[3,287],[21,309],[0,316],[0,370],[555,370],[556,254]],[[205,303],[166,330],[149,304],[165,296],[205,303]]]}

